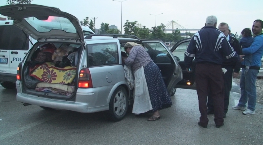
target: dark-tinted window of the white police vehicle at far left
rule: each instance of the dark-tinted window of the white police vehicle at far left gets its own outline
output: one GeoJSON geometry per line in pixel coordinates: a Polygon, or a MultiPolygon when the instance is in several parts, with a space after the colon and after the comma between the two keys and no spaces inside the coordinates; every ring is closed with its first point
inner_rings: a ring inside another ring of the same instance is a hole
{"type": "Polygon", "coordinates": [[[29,40],[22,30],[14,25],[0,26],[1,50],[28,50],[29,40]]]}

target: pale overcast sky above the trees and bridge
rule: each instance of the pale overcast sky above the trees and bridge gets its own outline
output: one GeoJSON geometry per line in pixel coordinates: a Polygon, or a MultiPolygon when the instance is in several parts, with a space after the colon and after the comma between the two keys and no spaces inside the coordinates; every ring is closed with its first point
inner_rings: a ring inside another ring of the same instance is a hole
{"type": "MultiPolygon", "coordinates": [[[[119,0],[123,1],[123,0],[119,0]]],[[[121,26],[121,2],[112,0],[33,0],[32,4],[57,7],[83,20],[86,16],[97,17],[96,28],[100,24],[121,26]]],[[[0,6],[6,0],[0,0],[0,6]]],[[[209,15],[218,18],[218,24],[226,22],[231,33],[240,34],[244,28],[251,28],[253,21],[263,20],[263,0],[127,0],[122,2],[122,25],[138,21],[147,28],[176,21],[186,29],[200,29],[209,15]],[[162,15],[157,15],[161,14],[162,15]]],[[[124,33],[124,32],[123,32],[124,33]]]]}

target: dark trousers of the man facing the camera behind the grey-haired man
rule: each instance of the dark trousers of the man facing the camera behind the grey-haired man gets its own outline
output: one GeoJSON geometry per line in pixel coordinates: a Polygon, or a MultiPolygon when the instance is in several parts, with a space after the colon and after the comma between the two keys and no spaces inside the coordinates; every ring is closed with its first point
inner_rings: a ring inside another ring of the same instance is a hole
{"type": "MultiPolygon", "coordinates": [[[[224,113],[226,114],[228,111],[228,105],[229,105],[229,96],[230,96],[230,90],[232,88],[232,74],[233,74],[233,66],[222,66],[222,68],[226,68],[227,71],[223,75],[224,78],[224,113]]],[[[214,112],[214,106],[213,106],[213,98],[211,96],[211,92],[209,92],[207,97],[207,108],[209,111],[214,112]]]]}

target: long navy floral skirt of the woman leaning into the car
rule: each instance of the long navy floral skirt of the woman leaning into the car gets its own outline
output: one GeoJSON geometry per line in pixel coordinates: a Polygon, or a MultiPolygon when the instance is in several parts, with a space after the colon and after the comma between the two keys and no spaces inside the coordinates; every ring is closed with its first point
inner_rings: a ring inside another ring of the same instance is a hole
{"type": "Polygon", "coordinates": [[[150,62],[144,67],[144,75],[153,107],[152,112],[171,107],[171,97],[168,94],[159,67],[150,62]]]}

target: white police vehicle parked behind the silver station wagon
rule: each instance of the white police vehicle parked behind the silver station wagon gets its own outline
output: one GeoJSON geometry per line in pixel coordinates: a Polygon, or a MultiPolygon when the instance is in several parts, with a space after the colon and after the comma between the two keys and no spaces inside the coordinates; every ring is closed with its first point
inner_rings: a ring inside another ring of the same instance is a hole
{"type": "MultiPolygon", "coordinates": [[[[82,29],[84,36],[95,34],[88,27],[82,29]]],[[[36,42],[13,25],[13,20],[0,21],[0,83],[4,88],[16,87],[17,66],[36,42]]]]}

